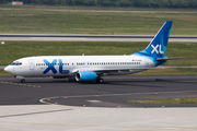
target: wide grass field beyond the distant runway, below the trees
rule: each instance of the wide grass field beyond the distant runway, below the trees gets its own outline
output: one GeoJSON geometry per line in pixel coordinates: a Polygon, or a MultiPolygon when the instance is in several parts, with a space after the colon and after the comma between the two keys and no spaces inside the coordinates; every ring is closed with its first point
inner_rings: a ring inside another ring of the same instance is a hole
{"type": "MultiPolygon", "coordinates": [[[[13,7],[5,8],[13,9],[13,7]]],[[[20,9],[20,7],[14,8],[20,9]]],[[[3,8],[1,7],[1,9],[3,8]]],[[[57,7],[21,7],[23,10],[1,9],[0,33],[7,34],[154,35],[169,20],[174,22],[171,35],[197,34],[197,16],[193,10],[193,13],[187,13],[188,10],[182,10],[183,13],[172,13],[167,12],[169,9],[162,10],[166,13],[137,13],[66,11],[61,10],[62,8],[59,8],[61,11],[57,11],[57,7]],[[39,9],[48,9],[48,11],[39,9]]]]}

